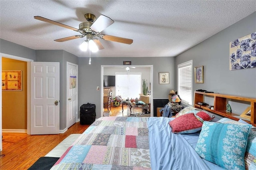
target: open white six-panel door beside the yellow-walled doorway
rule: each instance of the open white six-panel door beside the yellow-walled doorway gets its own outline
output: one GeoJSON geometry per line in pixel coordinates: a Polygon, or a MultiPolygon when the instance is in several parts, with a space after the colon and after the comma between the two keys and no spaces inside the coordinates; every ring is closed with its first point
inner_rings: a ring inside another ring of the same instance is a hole
{"type": "Polygon", "coordinates": [[[30,134],[60,132],[60,63],[30,64],[30,134]]]}

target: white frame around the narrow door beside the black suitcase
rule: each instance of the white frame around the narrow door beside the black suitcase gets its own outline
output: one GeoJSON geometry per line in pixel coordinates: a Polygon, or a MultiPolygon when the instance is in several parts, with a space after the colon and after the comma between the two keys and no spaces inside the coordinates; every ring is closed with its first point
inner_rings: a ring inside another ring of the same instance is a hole
{"type": "Polygon", "coordinates": [[[67,78],[67,87],[66,87],[66,127],[68,128],[68,64],[70,65],[74,65],[76,66],[76,122],[80,121],[80,119],[78,119],[78,65],[74,64],[74,63],[70,63],[67,61],[67,65],[66,65],[66,70],[67,70],[67,74],[66,74],[66,78],[67,78]]]}

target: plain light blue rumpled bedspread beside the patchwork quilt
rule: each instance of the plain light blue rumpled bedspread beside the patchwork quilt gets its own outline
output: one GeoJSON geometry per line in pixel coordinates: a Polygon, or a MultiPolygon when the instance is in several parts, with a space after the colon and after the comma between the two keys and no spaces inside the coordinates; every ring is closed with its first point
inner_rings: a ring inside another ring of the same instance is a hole
{"type": "Polygon", "coordinates": [[[210,170],[181,134],[172,133],[170,120],[172,118],[148,119],[152,170],[210,170]]]}

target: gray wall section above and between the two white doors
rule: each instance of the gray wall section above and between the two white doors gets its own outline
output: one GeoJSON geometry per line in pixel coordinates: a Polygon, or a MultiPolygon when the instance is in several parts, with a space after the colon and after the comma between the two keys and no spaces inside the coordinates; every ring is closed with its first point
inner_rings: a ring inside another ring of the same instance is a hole
{"type": "MultiPolygon", "coordinates": [[[[78,65],[78,57],[63,50],[36,50],[36,61],[60,62],[60,130],[64,130],[67,120],[67,61],[78,65]]],[[[79,67],[78,67],[79,68],[79,67]]],[[[79,77],[78,77],[79,79],[79,77]]]]}

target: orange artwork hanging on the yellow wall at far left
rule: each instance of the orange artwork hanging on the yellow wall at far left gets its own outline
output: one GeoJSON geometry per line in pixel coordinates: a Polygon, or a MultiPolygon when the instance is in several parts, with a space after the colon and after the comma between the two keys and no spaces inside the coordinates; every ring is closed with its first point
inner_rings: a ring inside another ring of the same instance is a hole
{"type": "Polygon", "coordinates": [[[2,71],[2,91],[22,91],[22,71],[2,71]]]}

